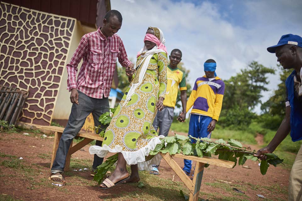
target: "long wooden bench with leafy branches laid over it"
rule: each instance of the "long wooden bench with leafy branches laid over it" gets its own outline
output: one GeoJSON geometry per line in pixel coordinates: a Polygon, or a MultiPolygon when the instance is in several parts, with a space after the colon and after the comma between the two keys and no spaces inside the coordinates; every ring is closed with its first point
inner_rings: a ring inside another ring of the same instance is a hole
{"type": "MultiPolygon", "coordinates": [[[[53,142],[53,152],[52,152],[51,164],[50,164],[50,168],[51,168],[53,166],[53,161],[56,156],[59,141],[60,141],[60,138],[64,131],[64,128],[57,127],[57,126],[37,126],[36,128],[55,132],[54,133],[54,142],[53,142]]],[[[73,153],[75,153],[76,151],[78,151],[79,149],[84,147],[85,145],[89,144],[92,140],[103,141],[103,137],[100,137],[99,135],[93,134],[93,133],[80,132],[76,136],[83,137],[84,140],[82,140],[81,142],[77,143],[74,146],[72,146],[72,142],[71,142],[71,145],[70,145],[67,157],[66,157],[64,171],[67,171],[69,169],[70,156],[73,153]]],[[[204,164],[215,165],[218,167],[226,167],[226,168],[233,168],[235,165],[235,163],[232,161],[225,161],[225,160],[211,158],[211,157],[207,157],[207,156],[204,156],[203,158],[200,158],[198,156],[186,156],[183,154],[175,154],[175,155],[171,156],[169,153],[166,153],[166,154],[160,153],[160,155],[165,159],[165,161],[168,163],[168,165],[172,168],[172,170],[176,173],[176,175],[182,180],[182,182],[189,189],[189,191],[190,191],[189,201],[198,200],[201,180],[202,180],[202,176],[203,176],[203,172],[204,172],[204,164]],[[176,163],[176,161],[173,159],[173,157],[196,161],[193,181],[185,174],[185,172],[183,172],[182,168],[176,163]]]]}

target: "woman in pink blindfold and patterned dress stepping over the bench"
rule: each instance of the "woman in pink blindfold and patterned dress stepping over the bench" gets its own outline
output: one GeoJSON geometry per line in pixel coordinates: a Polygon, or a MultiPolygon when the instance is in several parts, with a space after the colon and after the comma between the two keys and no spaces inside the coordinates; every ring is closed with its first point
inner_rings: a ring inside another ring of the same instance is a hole
{"type": "Polygon", "coordinates": [[[159,155],[151,160],[148,155],[164,137],[157,135],[152,123],[157,110],[163,109],[167,63],[163,32],[149,27],[144,46],[137,54],[135,71],[127,69],[131,83],[106,129],[103,145],[89,148],[91,154],[99,157],[105,157],[108,152],[118,153],[115,171],[100,185],[101,188],[110,188],[123,181],[138,182],[138,169],[152,170],[152,164],[159,164],[159,155]],[[126,164],[131,165],[131,176],[126,164]]]}

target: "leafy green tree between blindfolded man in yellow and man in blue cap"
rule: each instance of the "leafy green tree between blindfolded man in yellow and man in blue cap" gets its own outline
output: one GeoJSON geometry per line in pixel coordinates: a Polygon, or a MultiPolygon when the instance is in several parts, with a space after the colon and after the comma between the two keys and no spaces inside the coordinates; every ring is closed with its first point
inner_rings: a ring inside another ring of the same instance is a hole
{"type": "Polygon", "coordinates": [[[253,109],[261,104],[261,93],[268,91],[268,74],[275,70],[252,61],[236,76],[225,80],[220,125],[245,129],[255,117],[253,109]]]}

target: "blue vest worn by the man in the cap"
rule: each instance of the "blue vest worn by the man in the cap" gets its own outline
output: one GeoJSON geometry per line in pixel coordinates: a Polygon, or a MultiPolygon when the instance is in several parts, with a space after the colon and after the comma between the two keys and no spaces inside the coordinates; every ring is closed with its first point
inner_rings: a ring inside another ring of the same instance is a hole
{"type": "Polygon", "coordinates": [[[293,142],[302,140],[302,105],[294,98],[294,70],[285,81],[287,97],[290,104],[290,136],[293,142]]]}

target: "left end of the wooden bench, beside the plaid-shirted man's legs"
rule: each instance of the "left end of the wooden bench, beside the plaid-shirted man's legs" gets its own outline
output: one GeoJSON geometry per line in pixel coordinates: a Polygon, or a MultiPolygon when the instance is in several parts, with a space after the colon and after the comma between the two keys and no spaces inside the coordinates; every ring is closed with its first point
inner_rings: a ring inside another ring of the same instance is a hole
{"type": "MultiPolygon", "coordinates": [[[[54,158],[56,157],[57,149],[58,149],[58,146],[59,146],[59,141],[61,139],[64,128],[58,127],[58,126],[36,126],[36,128],[37,129],[42,129],[42,130],[54,131],[53,151],[52,151],[51,162],[50,162],[50,168],[51,168],[53,166],[54,158]]],[[[76,136],[83,137],[84,139],[81,142],[74,145],[74,146],[72,146],[72,142],[71,142],[69,151],[68,151],[67,156],[66,156],[64,171],[69,170],[70,157],[73,153],[80,150],[81,148],[83,148],[85,145],[89,144],[93,140],[99,140],[99,141],[104,140],[104,138],[100,137],[98,134],[85,133],[83,131],[80,131],[80,133],[78,133],[76,136]]]]}

